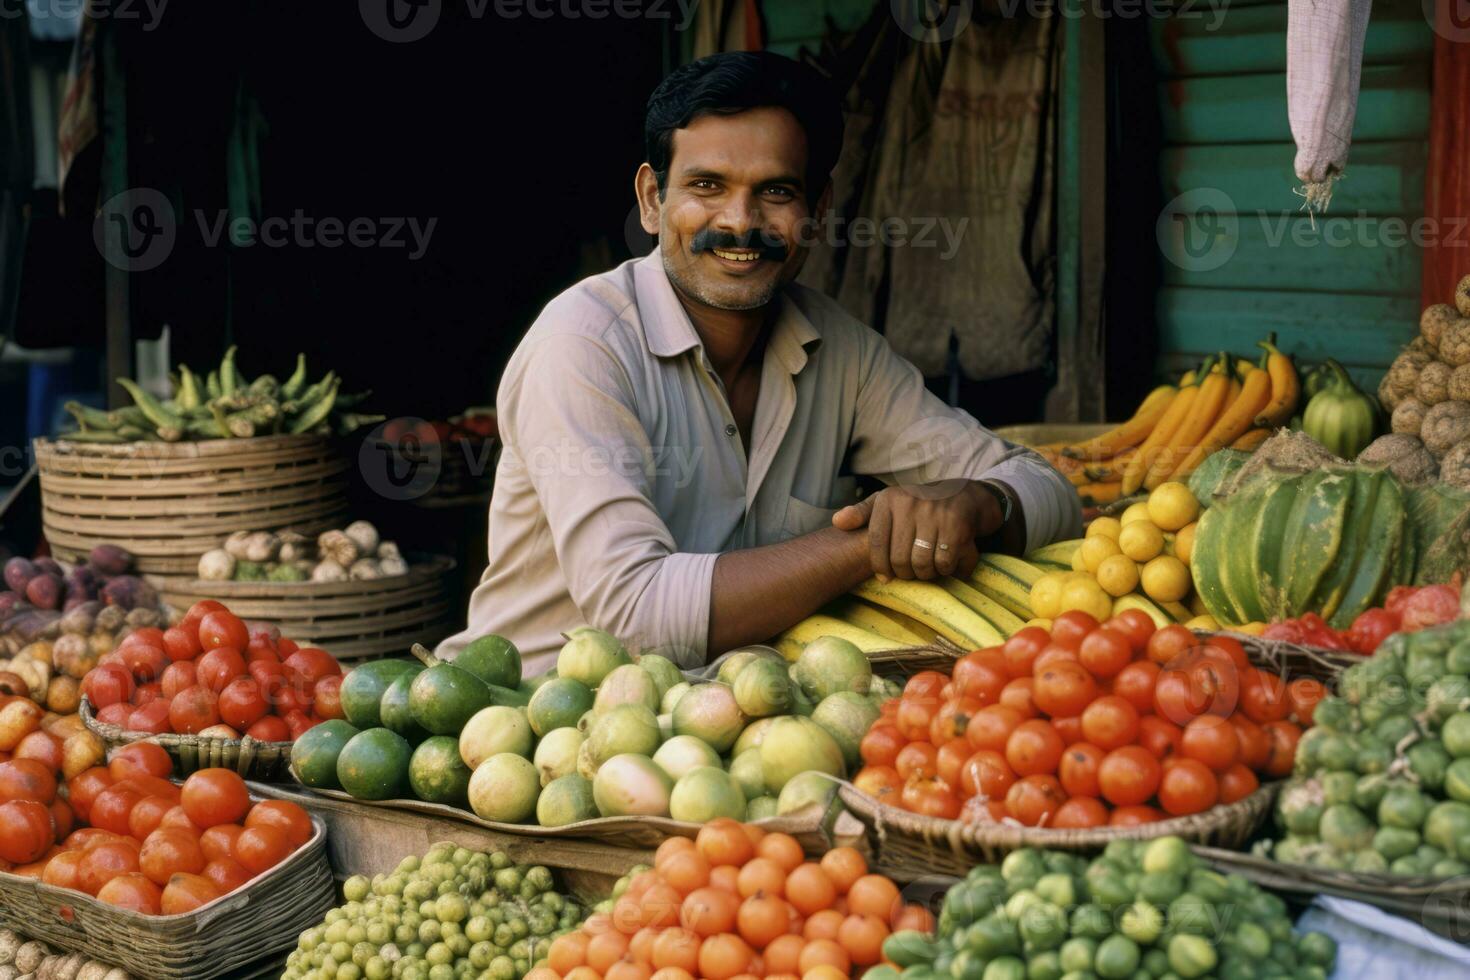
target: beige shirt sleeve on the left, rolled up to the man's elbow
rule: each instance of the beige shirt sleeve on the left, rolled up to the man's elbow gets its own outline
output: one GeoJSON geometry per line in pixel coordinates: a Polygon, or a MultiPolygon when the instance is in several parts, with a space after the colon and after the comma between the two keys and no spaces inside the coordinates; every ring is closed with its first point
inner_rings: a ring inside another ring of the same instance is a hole
{"type": "Polygon", "coordinates": [[[526,467],[587,623],[632,649],[666,646],[703,663],[719,555],[675,550],[653,505],[654,453],[622,364],[595,339],[551,335],[507,382],[507,448],[526,467]]]}

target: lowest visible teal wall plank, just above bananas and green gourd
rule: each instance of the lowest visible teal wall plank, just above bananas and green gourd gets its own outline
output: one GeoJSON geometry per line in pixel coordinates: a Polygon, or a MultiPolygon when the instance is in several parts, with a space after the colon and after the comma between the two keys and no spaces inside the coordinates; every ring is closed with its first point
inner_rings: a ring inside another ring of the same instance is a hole
{"type": "Polygon", "coordinates": [[[1311,361],[1386,367],[1419,332],[1419,300],[1266,289],[1161,289],[1158,350],[1247,354],[1276,332],[1283,350],[1311,361]]]}

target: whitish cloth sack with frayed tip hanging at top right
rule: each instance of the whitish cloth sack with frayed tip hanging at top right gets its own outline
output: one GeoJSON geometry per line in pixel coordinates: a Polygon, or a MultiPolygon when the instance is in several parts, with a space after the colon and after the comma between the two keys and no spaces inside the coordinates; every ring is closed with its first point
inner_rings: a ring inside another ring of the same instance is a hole
{"type": "Polygon", "coordinates": [[[1372,10],[1373,0],[1286,4],[1286,115],[1307,210],[1326,210],[1348,162],[1372,10]]]}

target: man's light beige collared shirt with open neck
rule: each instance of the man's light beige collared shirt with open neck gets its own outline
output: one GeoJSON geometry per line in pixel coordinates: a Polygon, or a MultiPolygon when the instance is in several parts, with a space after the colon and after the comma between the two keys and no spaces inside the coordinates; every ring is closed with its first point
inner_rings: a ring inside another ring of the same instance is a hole
{"type": "Polygon", "coordinates": [[[748,448],[657,251],[547,304],[500,383],[490,566],[441,655],[500,633],[534,676],[587,623],[703,664],[714,560],[831,526],[858,475],[1000,479],[1028,548],[1080,533],[1045,460],[929,394],[833,300],[794,284],[778,301],[748,448]]]}

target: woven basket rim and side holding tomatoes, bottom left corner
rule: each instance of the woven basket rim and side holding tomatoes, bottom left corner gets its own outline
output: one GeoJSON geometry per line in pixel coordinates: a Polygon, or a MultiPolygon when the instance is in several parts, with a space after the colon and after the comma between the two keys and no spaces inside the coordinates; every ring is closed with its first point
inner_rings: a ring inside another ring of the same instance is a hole
{"type": "Polygon", "coordinates": [[[326,824],[241,889],[181,915],[141,915],[72,889],[0,873],[0,924],[148,980],[207,980],[275,951],[335,905],[326,824]]]}

